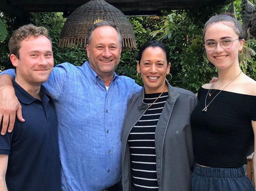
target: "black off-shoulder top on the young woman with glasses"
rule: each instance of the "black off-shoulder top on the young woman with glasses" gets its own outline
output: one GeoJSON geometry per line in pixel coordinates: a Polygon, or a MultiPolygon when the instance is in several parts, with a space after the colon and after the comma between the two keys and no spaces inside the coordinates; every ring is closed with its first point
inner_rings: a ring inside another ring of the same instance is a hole
{"type": "MultiPolygon", "coordinates": [[[[219,91],[207,97],[206,106],[219,91]]],[[[191,114],[195,162],[208,167],[242,167],[253,151],[251,121],[256,121],[256,96],[222,91],[204,112],[207,94],[208,89],[199,89],[198,105],[191,114]]]]}

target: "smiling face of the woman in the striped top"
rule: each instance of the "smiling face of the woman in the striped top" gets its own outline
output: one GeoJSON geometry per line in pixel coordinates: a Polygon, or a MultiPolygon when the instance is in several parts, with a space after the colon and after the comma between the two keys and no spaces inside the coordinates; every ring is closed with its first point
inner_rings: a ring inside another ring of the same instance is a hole
{"type": "Polygon", "coordinates": [[[146,93],[159,93],[165,89],[165,77],[170,72],[165,51],[160,47],[147,47],[137,62],[146,93]]]}

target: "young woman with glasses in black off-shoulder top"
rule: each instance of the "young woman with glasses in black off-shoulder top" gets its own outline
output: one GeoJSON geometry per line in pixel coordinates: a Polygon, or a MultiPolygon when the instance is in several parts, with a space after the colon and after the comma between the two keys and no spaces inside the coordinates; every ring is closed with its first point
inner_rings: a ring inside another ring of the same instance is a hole
{"type": "Polygon", "coordinates": [[[203,37],[219,80],[199,89],[191,114],[192,191],[252,191],[243,164],[256,135],[256,82],[239,67],[243,30],[236,18],[223,13],[206,22],[203,37]]]}

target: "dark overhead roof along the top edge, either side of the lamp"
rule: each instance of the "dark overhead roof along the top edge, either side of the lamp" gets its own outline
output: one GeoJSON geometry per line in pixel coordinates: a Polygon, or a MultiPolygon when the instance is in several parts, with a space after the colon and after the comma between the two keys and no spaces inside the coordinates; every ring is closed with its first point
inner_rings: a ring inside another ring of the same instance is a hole
{"type": "MultiPolygon", "coordinates": [[[[13,13],[13,9],[21,12],[69,12],[85,4],[89,0],[3,0],[0,11],[13,13]]],[[[122,12],[132,15],[142,13],[159,13],[160,10],[195,9],[207,6],[218,6],[234,0],[106,0],[122,12]],[[137,13],[137,14],[136,14],[137,13]]]]}

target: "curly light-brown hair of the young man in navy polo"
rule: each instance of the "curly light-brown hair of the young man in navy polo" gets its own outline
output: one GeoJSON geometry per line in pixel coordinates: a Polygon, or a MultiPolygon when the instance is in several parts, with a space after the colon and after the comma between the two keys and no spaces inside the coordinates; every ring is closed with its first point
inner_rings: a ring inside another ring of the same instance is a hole
{"type": "Polygon", "coordinates": [[[48,36],[48,31],[45,27],[37,27],[32,24],[23,25],[22,27],[19,27],[19,29],[15,30],[11,35],[8,43],[10,54],[14,54],[19,59],[20,42],[32,35],[34,37],[37,37],[39,35],[45,36],[50,40],[52,44],[52,41],[48,36]]]}

